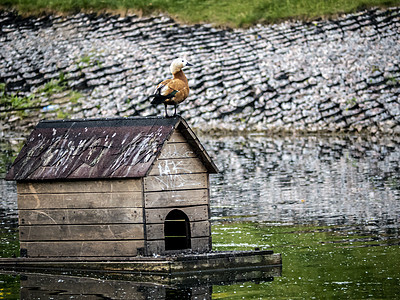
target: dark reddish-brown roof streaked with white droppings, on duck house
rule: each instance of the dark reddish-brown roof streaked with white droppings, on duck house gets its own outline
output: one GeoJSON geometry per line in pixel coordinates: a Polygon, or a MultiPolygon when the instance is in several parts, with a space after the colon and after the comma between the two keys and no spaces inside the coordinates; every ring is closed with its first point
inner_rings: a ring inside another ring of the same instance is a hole
{"type": "Polygon", "coordinates": [[[144,177],[175,129],[210,173],[218,172],[186,121],[112,118],[41,121],[6,175],[7,180],[144,177]]]}

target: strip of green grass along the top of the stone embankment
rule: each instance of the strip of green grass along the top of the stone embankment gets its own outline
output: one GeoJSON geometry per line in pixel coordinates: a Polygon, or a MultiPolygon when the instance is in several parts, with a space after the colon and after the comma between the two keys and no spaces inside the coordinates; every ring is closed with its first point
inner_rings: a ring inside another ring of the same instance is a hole
{"type": "Polygon", "coordinates": [[[312,20],[370,7],[398,6],[400,0],[0,0],[23,14],[43,12],[164,12],[185,23],[246,27],[286,19],[312,20]]]}

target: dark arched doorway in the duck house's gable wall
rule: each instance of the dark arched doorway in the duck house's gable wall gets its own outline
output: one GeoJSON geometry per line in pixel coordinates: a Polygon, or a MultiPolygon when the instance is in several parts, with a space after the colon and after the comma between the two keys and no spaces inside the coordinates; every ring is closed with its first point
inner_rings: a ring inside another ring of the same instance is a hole
{"type": "Polygon", "coordinates": [[[181,210],[170,211],[164,222],[165,250],[190,249],[190,224],[181,210]]]}

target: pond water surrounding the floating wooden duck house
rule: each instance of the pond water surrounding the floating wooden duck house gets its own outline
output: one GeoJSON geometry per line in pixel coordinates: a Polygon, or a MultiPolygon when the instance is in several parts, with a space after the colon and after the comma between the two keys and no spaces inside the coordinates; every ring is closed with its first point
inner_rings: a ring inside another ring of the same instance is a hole
{"type": "MultiPolygon", "coordinates": [[[[282,253],[281,274],[191,287],[3,274],[0,299],[135,299],[137,291],[140,299],[400,295],[400,139],[203,135],[200,140],[221,171],[211,176],[213,249],[272,249],[282,253]]],[[[3,169],[9,156],[10,151],[1,153],[3,169]]],[[[17,208],[13,183],[0,180],[0,188],[4,257],[18,253],[17,208]]]]}

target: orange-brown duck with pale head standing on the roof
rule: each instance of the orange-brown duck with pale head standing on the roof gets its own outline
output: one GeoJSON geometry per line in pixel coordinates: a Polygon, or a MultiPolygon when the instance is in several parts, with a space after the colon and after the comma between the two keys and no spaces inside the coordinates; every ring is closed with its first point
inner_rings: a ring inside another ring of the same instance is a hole
{"type": "Polygon", "coordinates": [[[170,65],[172,78],[161,81],[156,86],[154,93],[149,97],[154,98],[151,101],[153,106],[164,103],[166,118],[169,118],[167,110],[168,105],[173,105],[175,107],[175,112],[172,116],[175,117],[178,104],[189,96],[189,84],[185,73],[183,73],[183,68],[191,66],[193,65],[186,59],[174,59],[170,65]]]}

